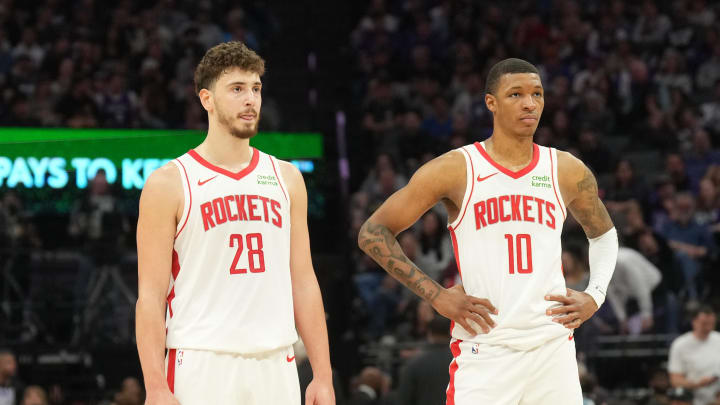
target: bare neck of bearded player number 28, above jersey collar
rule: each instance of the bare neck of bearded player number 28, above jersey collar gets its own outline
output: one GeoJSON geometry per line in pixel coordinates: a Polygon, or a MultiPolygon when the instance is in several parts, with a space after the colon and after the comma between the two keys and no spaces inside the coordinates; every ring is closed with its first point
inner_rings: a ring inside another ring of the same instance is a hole
{"type": "Polygon", "coordinates": [[[238,138],[212,128],[195,149],[208,162],[228,170],[242,169],[252,158],[249,138],[238,138]]]}

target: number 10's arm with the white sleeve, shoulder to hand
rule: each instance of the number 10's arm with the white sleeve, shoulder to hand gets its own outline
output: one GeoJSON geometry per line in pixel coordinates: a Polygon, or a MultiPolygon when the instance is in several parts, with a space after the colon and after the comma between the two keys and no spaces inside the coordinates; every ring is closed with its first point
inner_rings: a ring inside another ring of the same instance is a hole
{"type": "Polygon", "coordinates": [[[617,232],[598,195],[597,180],[583,162],[558,151],[558,183],[565,205],[590,242],[590,282],[584,292],[567,289],[567,295],[545,297],[560,306],[548,310],[554,321],[575,329],[588,320],[605,301],[617,261],[617,232]]]}

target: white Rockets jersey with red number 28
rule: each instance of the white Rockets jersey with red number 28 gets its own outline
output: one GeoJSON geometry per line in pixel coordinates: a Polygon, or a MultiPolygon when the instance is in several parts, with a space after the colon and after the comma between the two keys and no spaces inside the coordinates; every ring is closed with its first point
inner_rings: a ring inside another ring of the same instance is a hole
{"type": "Polygon", "coordinates": [[[278,161],[251,151],[237,173],[194,150],[173,160],[185,208],[167,298],[168,348],[258,353],[297,340],[287,187],[278,161]]]}

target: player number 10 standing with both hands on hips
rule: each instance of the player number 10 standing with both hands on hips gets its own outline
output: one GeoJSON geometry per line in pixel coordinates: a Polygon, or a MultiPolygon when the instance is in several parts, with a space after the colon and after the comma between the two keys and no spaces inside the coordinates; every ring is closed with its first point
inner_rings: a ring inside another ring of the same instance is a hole
{"type": "Polygon", "coordinates": [[[493,134],[420,167],[360,229],[386,271],[450,318],[449,405],[570,405],[582,393],[572,331],[605,300],[617,232],[592,172],[533,143],[542,114],[538,70],[520,59],[492,67],[485,103],[493,134]],[[442,202],[461,286],[430,279],[396,236],[442,202]],[[560,236],[570,212],[588,237],[590,282],[565,287],[560,236]]]}

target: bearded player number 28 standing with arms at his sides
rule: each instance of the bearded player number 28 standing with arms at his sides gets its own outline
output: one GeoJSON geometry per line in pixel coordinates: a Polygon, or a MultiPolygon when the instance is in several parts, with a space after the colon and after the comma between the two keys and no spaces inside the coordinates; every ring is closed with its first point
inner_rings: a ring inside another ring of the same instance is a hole
{"type": "Polygon", "coordinates": [[[250,147],[265,62],[240,42],[195,70],[208,133],[153,172],[137,228],[137,346],[147,405],[300,404],[297,331],[334,405],[325,311],[300,172],[250,147]],[[167,349],[167,353],[166,353],[167,349]]]}

